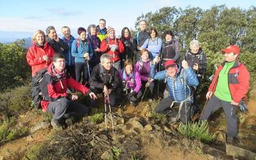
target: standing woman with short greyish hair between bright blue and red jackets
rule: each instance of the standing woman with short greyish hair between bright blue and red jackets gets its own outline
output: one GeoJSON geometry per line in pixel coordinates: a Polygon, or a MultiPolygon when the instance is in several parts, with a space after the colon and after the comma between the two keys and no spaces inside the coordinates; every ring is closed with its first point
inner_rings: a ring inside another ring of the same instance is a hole
{"type": "Polygon", "coordinates": [[[93,68],[100,63],[100,38],[97,36],[97,26],[95,24],[88,26],[87,30],[87,40],[90,41],[93,50],[93,56],[90,63],[90,67],[93,68]]]}

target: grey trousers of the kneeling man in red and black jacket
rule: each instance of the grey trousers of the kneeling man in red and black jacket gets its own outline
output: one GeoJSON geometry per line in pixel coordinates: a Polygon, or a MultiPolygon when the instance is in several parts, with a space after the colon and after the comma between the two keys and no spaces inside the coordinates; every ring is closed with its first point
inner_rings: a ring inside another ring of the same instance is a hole
{"type": "Polygon", "coordinates": [[[83,104],[79,104],[67,98],[61,98],[55,100],[54,102],[49,102],[47,106],[47,112],[51,113],[52,119],[55,121],[60,121],[61,118],[66,116],[83,116],[88,113],[89,109],[83,104]]]}

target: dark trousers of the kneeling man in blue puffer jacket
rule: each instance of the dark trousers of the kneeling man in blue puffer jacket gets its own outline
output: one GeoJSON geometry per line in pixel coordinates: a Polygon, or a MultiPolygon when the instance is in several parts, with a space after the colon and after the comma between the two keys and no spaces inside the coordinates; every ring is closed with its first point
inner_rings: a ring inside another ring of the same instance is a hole
{"type": "MultiPolygon", "coordinates": [[[[171,111],[171,104],[173,100],[169,97],[162,99],[156,106],[156,113],[168,114],[171,111]]],[[[180,106],[180,102],[174,102],[173,106],[180,106]]],[[[180,110],[180,121],[183,124],[189,122],[191,115],[191,102],[183,102],[182,108],[180,110]]]]}

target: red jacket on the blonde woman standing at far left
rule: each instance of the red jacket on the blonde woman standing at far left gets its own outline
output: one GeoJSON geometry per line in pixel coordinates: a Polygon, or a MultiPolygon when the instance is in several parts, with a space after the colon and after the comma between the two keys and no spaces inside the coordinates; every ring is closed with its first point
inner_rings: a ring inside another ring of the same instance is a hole
{"type": "Polygon", "coordinates": [[[38,47],[35,43],[29,47],[26,58],[28,64],[32,68],[32,76],[36,75],[38,70],[47,67],[52,62],[52,57],[54,56],[55,52],[52,49],[51,45],[48,42],[45,42],[44,48],[38,47]],[[43,56],[47,55],[49,57],[49,61],[46,62],[43,60],[43,56]]]}

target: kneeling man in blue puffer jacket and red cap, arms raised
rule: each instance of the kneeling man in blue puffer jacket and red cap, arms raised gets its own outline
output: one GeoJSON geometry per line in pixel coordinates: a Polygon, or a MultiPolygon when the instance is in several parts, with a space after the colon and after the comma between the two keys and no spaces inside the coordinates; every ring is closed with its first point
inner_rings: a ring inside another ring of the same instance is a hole
{"type": "Polygon", "coordinates": [[[174,60],[168,60],[164,63],[165,70],[156,72],[155,65],[158,63],[158,59],[155,58],[153,63],[154,65],[150,68],[150,77],[159,80],[165,79],[169,91],[169,97],[162,99],[156,106],[156,113],[168,114],[172,106],[179,106],[176,120],[180,118],[182,123],[187,124],[193,103],[191,87],[199,84],[193,68],[189,67],[185,60],[182,61],[183,68],[174,60]]]}

